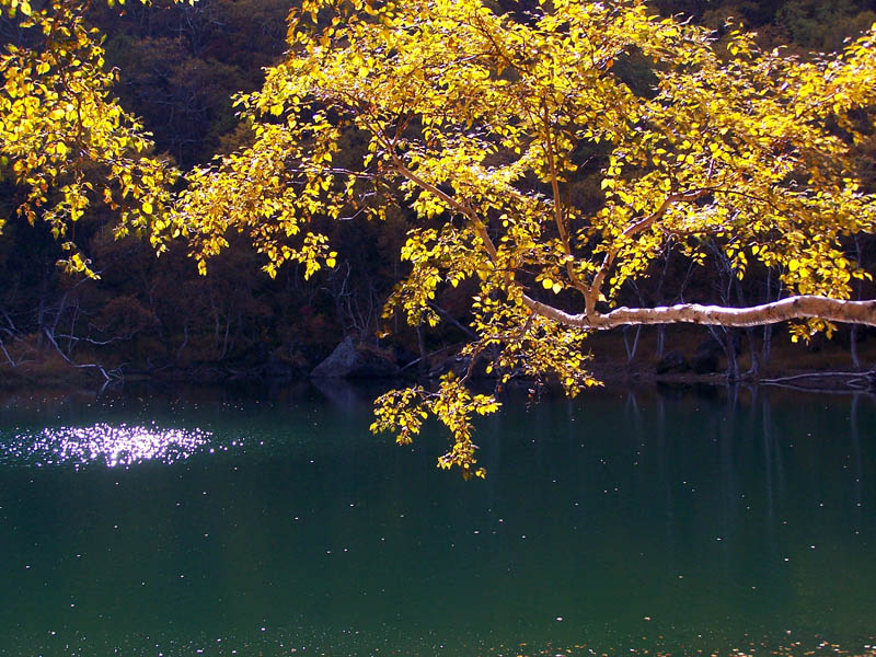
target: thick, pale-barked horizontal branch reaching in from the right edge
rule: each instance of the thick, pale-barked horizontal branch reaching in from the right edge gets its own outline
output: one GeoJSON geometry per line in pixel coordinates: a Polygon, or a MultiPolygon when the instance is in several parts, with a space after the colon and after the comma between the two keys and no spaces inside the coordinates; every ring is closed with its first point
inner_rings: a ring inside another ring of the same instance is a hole
{"type": "Polygon", "coordinates": [[[802,295],[749,308],[679,303],[656,308],[618,308],[608,313],[572,314],[523,296],[523,303],[550,320],[581,328],[614,328],[625,324],[710,324],[763,326],[787,320],[818,319],[876,326],[876,301],[845,301],[802,295]]]}

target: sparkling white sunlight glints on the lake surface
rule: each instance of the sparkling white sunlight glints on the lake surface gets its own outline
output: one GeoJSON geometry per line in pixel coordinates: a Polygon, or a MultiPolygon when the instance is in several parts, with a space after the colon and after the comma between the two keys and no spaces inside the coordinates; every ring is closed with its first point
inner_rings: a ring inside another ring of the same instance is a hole
{"type": "MultiPolygon", "coordinates": [[[[41,431],[0,434],[0,462],[45,465],[89,464],[129,468],[147,461],[183,461],[205,448],[210,431],[97,423],[87,427],[47,427],[41,431]]],[[[222,449],[222,448],[220,448],[222,449]]]]}

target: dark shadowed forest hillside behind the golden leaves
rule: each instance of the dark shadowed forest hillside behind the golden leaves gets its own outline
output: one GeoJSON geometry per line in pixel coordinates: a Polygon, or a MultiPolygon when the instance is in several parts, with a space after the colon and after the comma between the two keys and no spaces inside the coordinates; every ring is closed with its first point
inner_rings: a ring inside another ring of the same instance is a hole
{"type": "MultiPolygon", "coordinates": [[[[120,70],[116,93],[153,132],[158,152],[187,169],[245,146],[249,134],[237,123],[231,96],[258,88],[263,68],[281,57],[289,0],[199,0],[194,7],[155,0],[151,7],[129,2],[123,12],[97,4],[90,19],[107,35],[108,64],[120,70]]],[[[498,5],[520,11],[527,2],[500,0],[498,5]]],[[[839,49],[876,22],[876,0],[657,0],[653,5],[667,15],[691,16],[718,34],[734,16],[757,31],[763,46],[784,45],[800,55],[839,49]]],[[[0,22],[0,39],[20,38],[13,23],[0,22]]],[[[626,69],[634,88],[647,89],[644,64],[630,60],[626,69]]],[[[871,185],[875,153],[876,140],[861,148],[861,168],[871,185]]],[[[575,187],[585,203],[598,203],[595,175],[583,175],[575,187]]],[[[18,194],[0,170],[0,216],[8,218],[0,234],[0,385],[65,379],[73,371],[204,381],[292,378],[312,369],[347,336],[393,368],[413,362],[406,371],[422,373],[464,337],[465,290],[436,300],[449,320],[443,327],[426,331],[390,320],[394,337],[376,337],[382,301],[403,267],[397,258],[405,238],[401,214],[380,223],[322,227],[333,239],[338,265],[304,281],[293,266],[272,280],[261,270],[262,258],[233,238],[209,275],[200,277],[183,245],[157,258],[148,241],[114,240],[113,217],[95,212],[77,224],[73,235],[100,274],[100,280],[92,280],[68,276],[56,265],[58,243],[46,227],[15,216],[18,194]]],[[[876,263],[869,238],[849,247],[865,266],[876,263]]],[[[667,254],[647,280],[625,293],[636,304],[715,300],[738,306],[781,292],[765,272],[739,283],[719,255],[702,268],[667,254]]],[[[857,293],[874,292],[862,287],[857,293]]],[[[770,367],[771,346],[788,342],[782,333],[781,327],[649,327],[599,339],[606,346],[604,367],[757,373],[770,367]]],[[[872,365],[864,350],[867,333],[843,328],[834,337],[846,354],[838,368],[872,365]]],[[[806,355],[821,349],[821,341],[796,347],[794,359],[807,362],[806,355]]],[[[876,338],[868,342],[874,346],[876,338]]]]}

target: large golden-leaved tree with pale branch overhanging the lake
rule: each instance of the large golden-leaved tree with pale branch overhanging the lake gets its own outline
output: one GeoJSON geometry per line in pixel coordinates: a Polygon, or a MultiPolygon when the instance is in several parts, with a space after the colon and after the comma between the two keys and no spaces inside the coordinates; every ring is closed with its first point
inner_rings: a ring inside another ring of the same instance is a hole
{"type": "Polygon", "coordinates": [[[335,265],[320,221],[403,208],[408,269],[384,316],[437,324],[431,300],[458,287],[475,337],[466,371],[383,395],[372,428],[408,442],[435,415],[453,438],[439,465],[483,475],[472,416],[498,402],[466,380],[485,354],[502,382],[554,377],[576,394],[597,383],[593,330],[797,320],[799,339],[876,325],[876,301],[848,300],[869,274],[845,249],[876,221],[851,154],[872,127],[874,39],[802,60],[738,30],[717,42],[641,0],[511,13],[483,0],[304,0],[285,59],[238,100],[252,145],[189,172],[169,214],[150,192],[120,226],[148,224],[159,247],[187,235],[201,272],[240,231],[268,274],[297,261],[310,276],[335,265]],[[641,61],[650,89],[630,76],[641,61]],[[598,180],[598,204],[575,194],[580,178],[598,180]],[[775,270],[789,296],[618,308],[670,245],[695,263],[717,247],[739,277],[749,263],[775,270]]]}

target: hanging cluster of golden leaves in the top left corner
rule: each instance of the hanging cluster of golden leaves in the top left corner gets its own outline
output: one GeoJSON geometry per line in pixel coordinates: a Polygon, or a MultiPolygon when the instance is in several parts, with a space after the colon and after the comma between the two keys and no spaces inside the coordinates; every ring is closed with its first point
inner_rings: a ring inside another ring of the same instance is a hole
{"type": "Polygon", "coordinates": [[[150,136],[111,96],[117,74],[84,23],[85,4],[51,0],[36,11],[0,0],[0,12],[42,39],[34,48],[8,45],[0,56],[0,164],[24,189],[18,211],[64,241],[69,255],[60,264],[93,275],[68,239],[74,224],[97,204],[118,211],[117,235],[148,229],[178,172],[150,154],[150,136]]]}

